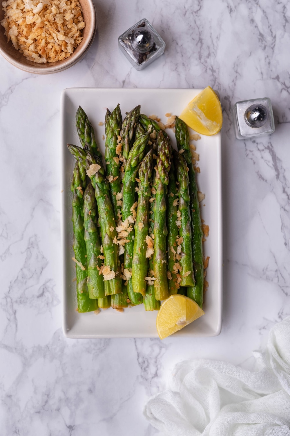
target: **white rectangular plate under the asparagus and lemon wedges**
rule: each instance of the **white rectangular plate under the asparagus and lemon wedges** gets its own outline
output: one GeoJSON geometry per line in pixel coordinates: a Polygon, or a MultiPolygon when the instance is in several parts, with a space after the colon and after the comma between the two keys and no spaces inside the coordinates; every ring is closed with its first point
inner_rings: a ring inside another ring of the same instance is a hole
{"type": "MultiPolygon", "coordinates": [[[[166,123],[165,114],[179,115],[198,93],[199,89],[65,89],[61,96],[62,124],[62,250],[63,250],[63,333],[67,337],[158,337],[157,311],[146,312],[143,305],[128,307],[123,313],[113,309],[95,313],[78,313],[76,275],[73,257],[73,225],[71,222],[70,181],[75,160],[67,143],[80,145],[75,127],[75,114],[81,106],[93,125],[97,143],[104,154],[104,122],[107,108],[111,111],[120,103],[123,117],[138,104],[141,113],[156,114],[166,123]]],[[[174,133],[167,129],[173,146],[174,133]]],[[[204,244],[205,256],[210,256],[207,269],[209,288],[204,297],[205,315],[175,333],[174,337],[216,336],[221,328],[222,311],[222,199],[221,199],[221,147],[220,133],[202,136],[195,142],[200,155],[198,185],[205,193],[201,214],[210,232],[204,244]],[[204,205],[204,206],[203,206],[204,205]]]]}

